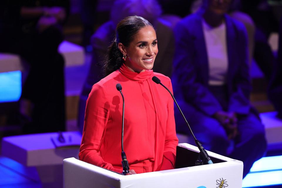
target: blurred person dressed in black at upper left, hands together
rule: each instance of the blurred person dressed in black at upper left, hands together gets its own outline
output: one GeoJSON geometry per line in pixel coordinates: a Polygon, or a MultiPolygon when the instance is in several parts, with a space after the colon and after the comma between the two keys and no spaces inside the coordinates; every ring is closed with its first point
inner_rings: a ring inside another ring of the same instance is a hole
{"type": "MultiPolygon", "coordinates": [[[[68,1],[4,2],[0,7],[0,51],[27,62],[20,98],[24,133],[65,129],[64,60],[58,53],[68,1]]],[[[23,74],[24,75],[24,74],[23,74]]]]}

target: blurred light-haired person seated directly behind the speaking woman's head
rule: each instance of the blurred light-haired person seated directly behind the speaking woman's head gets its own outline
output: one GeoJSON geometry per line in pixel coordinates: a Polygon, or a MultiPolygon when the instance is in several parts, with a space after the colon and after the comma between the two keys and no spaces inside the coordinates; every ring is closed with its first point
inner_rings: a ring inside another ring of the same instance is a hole
{"type": "MultiPolygon", "coordinates": [[[[78,127],[81,132],[83,128],[85,102],[93,84],[103,78],[101,63],[106,59],[108,46],[114,39],[117,23],[126,16],[132,15],[144,17],[159,31],[157,32],[159,54],[154,63],[154,71],[168,77],[171,76],[174,55],[173,28],[169,21],[160,17],[161,8],[159,4],[155,0],[116,0],[111,11],[111,20],[100,26],[91,38],[91,45],[93,47],[92,62],[79,102],[78,127]]],[[[170,16],[170,18],[174,20],[172,21],[173,23],[180,20],[177,16],[170,16]]]]}

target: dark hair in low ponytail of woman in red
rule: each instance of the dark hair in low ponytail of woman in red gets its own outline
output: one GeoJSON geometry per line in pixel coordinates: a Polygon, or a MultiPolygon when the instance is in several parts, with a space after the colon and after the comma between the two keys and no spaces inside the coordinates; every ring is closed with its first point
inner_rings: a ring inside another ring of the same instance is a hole
{"type": "Polygon", "coordinates": [[[109,46],[108,61],[103,66],[105,76],[119,69],[124,61],[117,44],[122,43],[128,46],[138,31],[146,26],[152,26],[152,24],[141,16],[127,16],[117,24],[115,40],[109,46]]]}

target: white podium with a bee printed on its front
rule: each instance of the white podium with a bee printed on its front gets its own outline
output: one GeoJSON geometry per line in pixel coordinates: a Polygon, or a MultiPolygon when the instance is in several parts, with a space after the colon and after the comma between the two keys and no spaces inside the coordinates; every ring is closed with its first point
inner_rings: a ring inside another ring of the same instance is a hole
{"type": "Polygon", "coordinates": [[[243,162],[207,151],[214,164],[194,166],[199,150],[186,143],[177,147],[176,168],[124,176],[68,158],[63,160],[64,187],[242,187],[243,162]],[[182,166],[187,167],[182,167],[182,166]],[[180,167],[180,168],[179,168],[180,167]],[[222,182],[223,181],[223,182],[222,182]],[[222,187],[220,186],[222,184],[222,187]]]}

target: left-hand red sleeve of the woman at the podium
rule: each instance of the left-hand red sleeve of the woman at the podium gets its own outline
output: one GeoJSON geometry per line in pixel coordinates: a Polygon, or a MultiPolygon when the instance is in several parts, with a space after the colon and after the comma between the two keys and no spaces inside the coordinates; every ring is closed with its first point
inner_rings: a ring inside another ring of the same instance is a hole
{"type": "Polygon", "coordinates": [[[100,145],[104,141],[103,133],[109,120],[110,103],[106,96],[103,86],[93,85],[86,103],[79,159],[115,172],[122,172],[114,168],[112,164],[105,162],[99,152],[100,145]]]}

